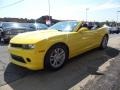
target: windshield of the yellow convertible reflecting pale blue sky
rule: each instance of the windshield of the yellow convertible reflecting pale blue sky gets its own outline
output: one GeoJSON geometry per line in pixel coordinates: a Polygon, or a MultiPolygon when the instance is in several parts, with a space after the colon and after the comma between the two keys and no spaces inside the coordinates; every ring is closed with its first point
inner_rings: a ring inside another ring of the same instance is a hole
{"type": "Polygon", "coordinates": [[[55,29],[62,32],[71,32],[78,25],[76,21],[63,21],[59,22],[48,29],[55,29]]]}

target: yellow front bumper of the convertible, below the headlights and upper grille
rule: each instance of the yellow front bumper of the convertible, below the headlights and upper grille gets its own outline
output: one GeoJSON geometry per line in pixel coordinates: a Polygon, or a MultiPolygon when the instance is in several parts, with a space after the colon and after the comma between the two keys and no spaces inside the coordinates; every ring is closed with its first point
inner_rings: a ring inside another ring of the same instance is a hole
{"type": "Polygon", "coordinates": [[[44,68],[44,52],[35,49],[25,50],[22,48],[13,48],[10,46],[8,46],[8,50],[11,54],[10,60],[12,63],[31,70],[44,68]]]}

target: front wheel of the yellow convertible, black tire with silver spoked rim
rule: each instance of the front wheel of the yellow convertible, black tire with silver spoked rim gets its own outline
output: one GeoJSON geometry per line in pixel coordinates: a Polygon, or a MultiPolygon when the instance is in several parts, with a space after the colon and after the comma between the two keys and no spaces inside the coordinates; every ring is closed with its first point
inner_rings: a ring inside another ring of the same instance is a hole
{"type": "Polygon", "coordinates": [[[52,46],[45,55],[44,65],[47,70],[58,70],[68,59],[68,49],[63,44],[52,46]]]}

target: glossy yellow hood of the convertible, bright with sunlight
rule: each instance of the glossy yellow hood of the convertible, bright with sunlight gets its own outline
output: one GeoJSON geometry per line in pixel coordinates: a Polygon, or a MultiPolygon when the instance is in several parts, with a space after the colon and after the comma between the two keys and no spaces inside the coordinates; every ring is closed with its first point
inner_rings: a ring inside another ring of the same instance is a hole
{"type": "Polygon", "coordinates": [[[49,39],[58,35],[68,34],[69,32],[61,32],[57,30],[41,30],[21,33],[14,36],[10,43],[23,43],[23,44],[34,44],[39,41],[49,39]]]}

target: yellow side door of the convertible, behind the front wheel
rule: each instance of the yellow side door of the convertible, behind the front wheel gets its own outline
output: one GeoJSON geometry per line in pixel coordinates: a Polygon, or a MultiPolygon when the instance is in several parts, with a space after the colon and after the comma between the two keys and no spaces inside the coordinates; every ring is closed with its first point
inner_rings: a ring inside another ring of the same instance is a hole
{"type": "Polygon", "coordinates": [[[95,45],[96,31],[91,31],[89,29],[74,32],[69,34],[69,47],[70,47],[70,55],[76,56],[80,53],[83,53],[89,49],[91,49],[95,45]]]}

